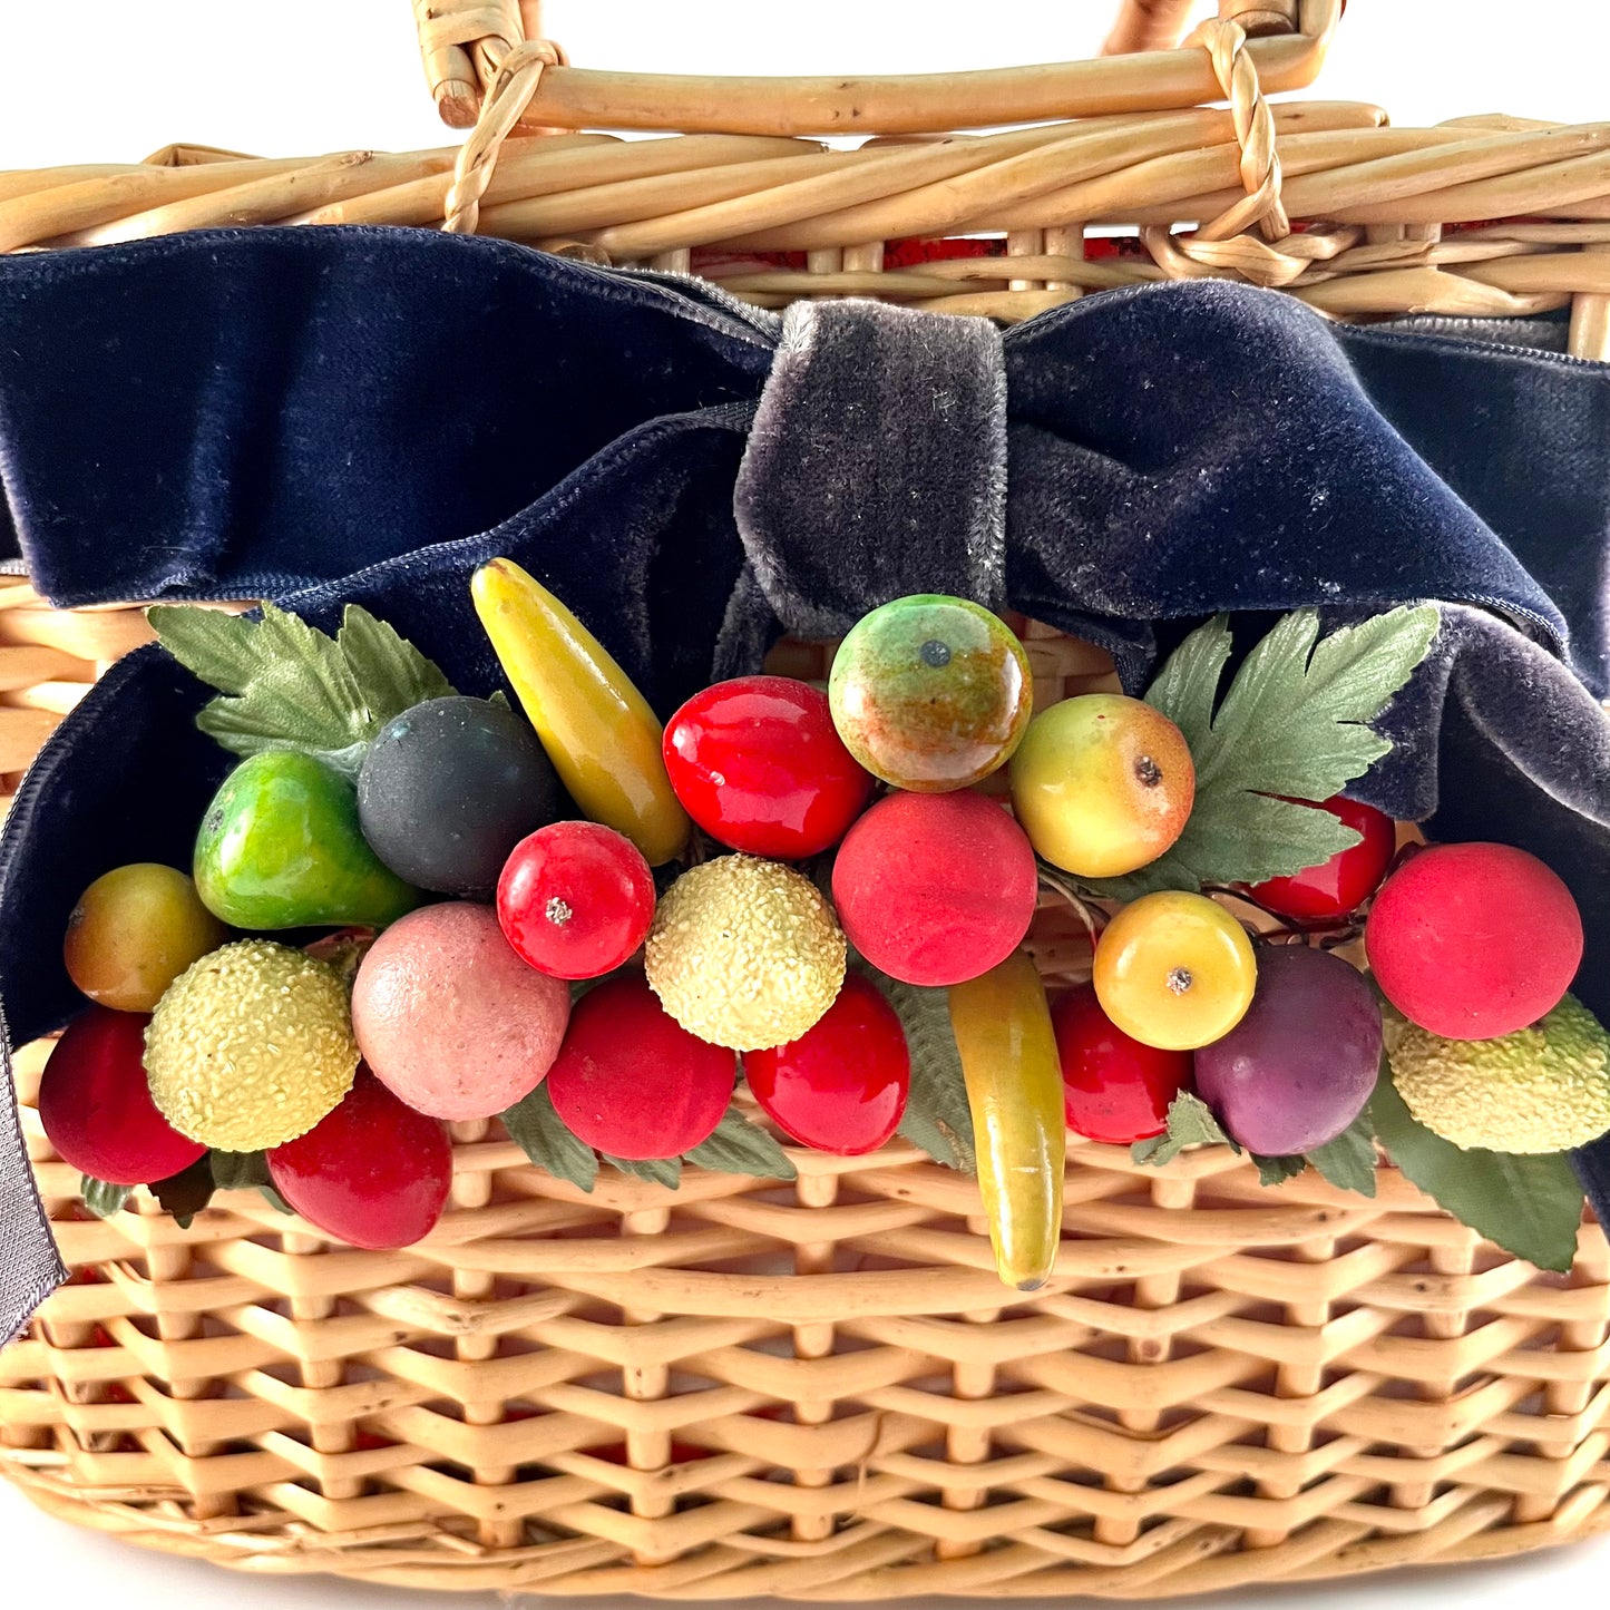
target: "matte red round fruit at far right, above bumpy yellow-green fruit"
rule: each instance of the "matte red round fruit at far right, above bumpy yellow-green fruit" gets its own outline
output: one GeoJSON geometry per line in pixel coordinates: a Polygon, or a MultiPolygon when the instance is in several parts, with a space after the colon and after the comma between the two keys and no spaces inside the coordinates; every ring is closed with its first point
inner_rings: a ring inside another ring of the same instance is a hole
{"type": "Polygon", "coordinates": [[[1364,948],[1410,1022],[1451,1040],[1492,1040],[1560,1005],[1583,960],[1583,919],[1534,855],[1439,844],[1386,879],[1364,948]]]}

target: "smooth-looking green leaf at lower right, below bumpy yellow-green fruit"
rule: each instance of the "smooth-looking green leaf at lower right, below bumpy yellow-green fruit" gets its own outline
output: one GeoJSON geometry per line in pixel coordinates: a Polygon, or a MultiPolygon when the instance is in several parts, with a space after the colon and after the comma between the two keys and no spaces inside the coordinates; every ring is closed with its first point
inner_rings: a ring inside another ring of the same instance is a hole
{"type": "Polygon", "coordinates": [[[1583,1187],[1563,1153],[1463,1150],[1417,1122],[1383,1059],[1370,1117],[1386,1154],[1439,1208],[1505,1253],[1565,1272],[1576,1259],[1583,1187]]]}

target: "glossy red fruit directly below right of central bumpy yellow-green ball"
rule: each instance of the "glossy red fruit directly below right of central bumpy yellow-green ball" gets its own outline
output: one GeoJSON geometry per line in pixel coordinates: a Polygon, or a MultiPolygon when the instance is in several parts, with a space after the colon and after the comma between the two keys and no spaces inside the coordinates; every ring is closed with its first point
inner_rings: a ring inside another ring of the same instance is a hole
{"type": "Polygon", "coordinates": [[[857,1158],[900,1127],[911,1055],[895,1009],[852,972],[815,1029],[791,1045],[745,1051],[744,1075],[762,1111],[800,1145],[857,1158]]]}

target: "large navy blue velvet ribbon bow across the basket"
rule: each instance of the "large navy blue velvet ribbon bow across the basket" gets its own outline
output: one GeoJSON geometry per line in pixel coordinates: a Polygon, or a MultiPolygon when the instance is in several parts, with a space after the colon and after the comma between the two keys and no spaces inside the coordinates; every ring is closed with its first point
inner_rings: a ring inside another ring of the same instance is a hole
{"type": "MultiPolygon", "coordinates": [[[[696,282],[361,229],[0,259],[0,546],[53,601],[275,596],[320,625],[356,601],[465,691],[496,681],[465,581],[499,554],[662,708],[908,591],[1101,641],[1130,686],[1214,610],[1439,599],[1359,792],[1549,860],[1610,1016],[1604,365],[1217,282],[1003,338],[871,304],[784,327],[696,282]]],[[[53,935],[77,890],[185,863],[224,765],[201,697],[137,654],[24,786],[0,850],[18,1040],[76,1006],[53,935]]],[[[1602,1212],[1604,1151],[1579,1158],[1602,1212]]]]}

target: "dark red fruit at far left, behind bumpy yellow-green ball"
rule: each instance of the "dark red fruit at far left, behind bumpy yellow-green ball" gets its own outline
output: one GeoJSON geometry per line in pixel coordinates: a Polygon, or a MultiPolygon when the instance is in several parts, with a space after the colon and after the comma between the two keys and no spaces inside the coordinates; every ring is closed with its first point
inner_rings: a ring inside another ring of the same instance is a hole
{"type": "Polygon", "coordinates": [[[56,1156],[108,1185],[151,1185],[206,1156],[151,1100],[143,1066],[150,1021],[92,1006],[56,1042],[39,1082],[39,1117],[56,1156]]]}

